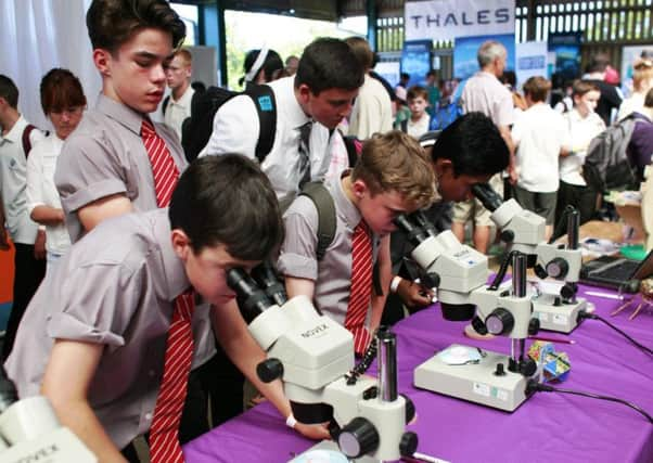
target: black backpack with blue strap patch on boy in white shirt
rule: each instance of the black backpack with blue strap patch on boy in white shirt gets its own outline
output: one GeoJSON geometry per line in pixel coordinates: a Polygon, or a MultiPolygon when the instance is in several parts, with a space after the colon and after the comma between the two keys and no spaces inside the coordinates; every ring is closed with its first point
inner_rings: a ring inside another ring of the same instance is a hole
{"type": "Polygon", "coordinates": [[[246,94],[254,101],[260,131],[256,144],[256,158],[263,163],[272,150],[277,131],[277,102],[272,89],[266,85],[248,85],[245,91],[234,92],[220,87],[209,87],[204,92],[195,92],[191,100],[191,117],[181,126],[181,145],[185,158],[195,159],[208,143],[213,132],[213,119],[218,108],[239,94],[246,94]]]}

